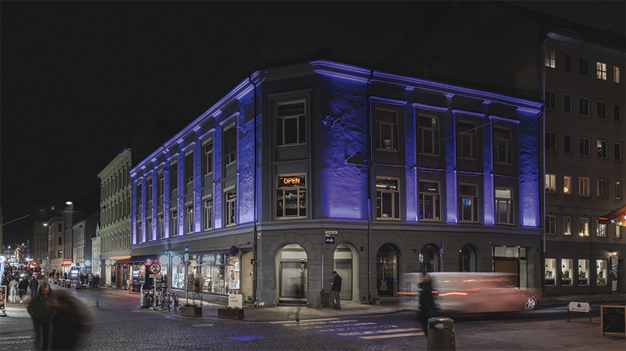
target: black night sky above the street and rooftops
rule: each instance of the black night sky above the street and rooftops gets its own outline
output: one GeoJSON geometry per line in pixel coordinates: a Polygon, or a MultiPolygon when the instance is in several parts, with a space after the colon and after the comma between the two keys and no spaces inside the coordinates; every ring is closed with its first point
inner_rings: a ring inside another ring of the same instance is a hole
{"type": "MultiPolygon", "coordinates": [[[[383,59],[401,44],[409,4],[1,1],[4,222],[94,191],[97,174],[152,121],[195,119],[261,60],[321,46],[383,59]]],[[[537,5],[624,34],[624,1],[527,3],[537,5]]],[[[4,243],[23,237],[29,219],[5,225],[4,243]]]]}

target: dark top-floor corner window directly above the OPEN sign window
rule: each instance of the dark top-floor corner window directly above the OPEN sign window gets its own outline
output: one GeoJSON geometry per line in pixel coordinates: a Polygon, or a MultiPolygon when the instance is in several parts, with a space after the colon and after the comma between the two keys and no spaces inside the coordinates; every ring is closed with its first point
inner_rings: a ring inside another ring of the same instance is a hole
{"type": "Polygon", "coordinates": [[[296,146],[307,142],[307,115],[303,101],[276,105],[276,146],[296,146]]]}

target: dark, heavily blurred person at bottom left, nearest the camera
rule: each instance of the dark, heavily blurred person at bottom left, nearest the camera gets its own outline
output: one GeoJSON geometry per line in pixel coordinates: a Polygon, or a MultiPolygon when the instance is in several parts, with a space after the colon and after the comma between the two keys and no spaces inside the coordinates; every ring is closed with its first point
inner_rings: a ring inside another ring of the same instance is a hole
{"type": "Polygon", "coordinates": [[[75,350],[91,322],[87,308],[67,291],[56,291],[56,314],[52,316],[51,350],[75,350]]]}

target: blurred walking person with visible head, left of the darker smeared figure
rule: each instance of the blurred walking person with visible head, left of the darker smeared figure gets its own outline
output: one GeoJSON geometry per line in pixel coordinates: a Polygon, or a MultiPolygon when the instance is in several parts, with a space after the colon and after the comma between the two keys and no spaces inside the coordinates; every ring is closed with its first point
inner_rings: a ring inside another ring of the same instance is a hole
{"type": "Polygon", "coordinates": [[[50,322],[55,311],[55,305],[50,284],[42,283],[35,297],[31,299],[28,308],[35,326],[35,350],[48,350],[50,322]]]}

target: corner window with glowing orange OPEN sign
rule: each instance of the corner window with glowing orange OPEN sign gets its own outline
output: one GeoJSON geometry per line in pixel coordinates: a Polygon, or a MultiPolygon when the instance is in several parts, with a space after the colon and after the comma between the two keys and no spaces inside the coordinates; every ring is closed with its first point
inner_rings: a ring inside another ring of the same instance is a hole
{"type": "Polygon", "coordinates": [[[307,185],[305,176],[278,177],[276,186],[276,217],[307,216],[307,185]]]}

